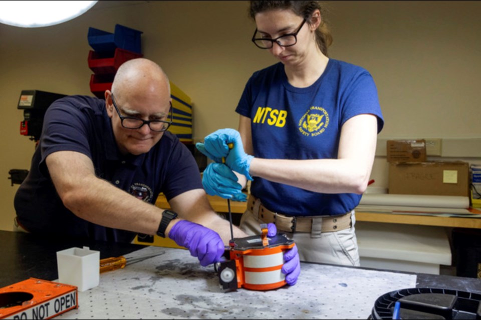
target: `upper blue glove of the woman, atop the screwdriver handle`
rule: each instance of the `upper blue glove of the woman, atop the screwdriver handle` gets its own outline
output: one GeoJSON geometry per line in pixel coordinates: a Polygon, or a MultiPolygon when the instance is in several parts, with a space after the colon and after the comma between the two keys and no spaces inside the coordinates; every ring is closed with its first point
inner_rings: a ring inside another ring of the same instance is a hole
{"type": "Polygon", "coordinates": [[[204,143],[198,142],[195,146],[200,152],[215,162],[220,163],[222,162],[222,157],[226,157],[225,163],[229,168],[244,174],[249,180],[252,180],[249,168],[254,156],[244,151],[244,145],[237,130],[229,128],[219,129],[207,135],[204,143]],[[229,150],[229,143],[233,144],[232,150],[229,150]]]}

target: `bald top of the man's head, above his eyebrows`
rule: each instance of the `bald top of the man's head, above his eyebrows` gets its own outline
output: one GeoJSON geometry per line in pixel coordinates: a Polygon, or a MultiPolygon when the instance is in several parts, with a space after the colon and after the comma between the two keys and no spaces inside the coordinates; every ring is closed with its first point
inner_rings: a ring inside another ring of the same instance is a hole
{"type": "Polygon", "coordinates": [[[155,62],[137,58],[124,62],[115,74],[112,92],[119,99],[160,94],[170,98],[169,79],[155,62]]]}

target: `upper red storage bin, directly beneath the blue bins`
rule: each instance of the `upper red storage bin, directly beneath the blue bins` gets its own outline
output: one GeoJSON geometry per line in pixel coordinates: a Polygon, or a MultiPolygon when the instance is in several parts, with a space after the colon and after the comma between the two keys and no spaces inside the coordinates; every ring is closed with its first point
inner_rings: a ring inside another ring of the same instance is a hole
{"type": "Polygon", "coordinates": [[[143,54],[116,48],[115,51],[89,51],[89,68],[95,74],[116,73],[119,66],[127,60],[142,57],[143,54]],[[112,55],[113,54],[113,55],[112,55]]]}

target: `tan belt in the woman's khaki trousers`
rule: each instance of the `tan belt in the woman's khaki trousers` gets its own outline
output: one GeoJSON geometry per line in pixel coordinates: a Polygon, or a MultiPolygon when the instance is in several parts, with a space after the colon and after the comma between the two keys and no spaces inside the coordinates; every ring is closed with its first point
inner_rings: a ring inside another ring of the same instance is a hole
{"type": "Polygon", "coordinates": [[[259,210],[255,212],[256,200],[258,199],[255,196],[249,196],[248,209],[250,209],[259,220],[266,223],[275,223],[278,230],[287,232],[311,232],[313,218],[322,218],[321,232],[333,232],[351,227],[351,212],[327,216],[292,216],[273,212],[262,203],[259,205],[259,210]]]}

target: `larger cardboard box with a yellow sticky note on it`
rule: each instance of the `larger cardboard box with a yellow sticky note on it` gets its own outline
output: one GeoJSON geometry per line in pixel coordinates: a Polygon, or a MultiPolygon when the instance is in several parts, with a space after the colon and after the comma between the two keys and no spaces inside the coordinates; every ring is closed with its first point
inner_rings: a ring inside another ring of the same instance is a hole
{"type": "Polygon", "coordinates": [[[469,196],[469,164],[463,161],[390,163],[389,193],[469,196]]]}

